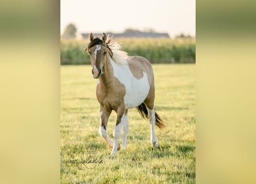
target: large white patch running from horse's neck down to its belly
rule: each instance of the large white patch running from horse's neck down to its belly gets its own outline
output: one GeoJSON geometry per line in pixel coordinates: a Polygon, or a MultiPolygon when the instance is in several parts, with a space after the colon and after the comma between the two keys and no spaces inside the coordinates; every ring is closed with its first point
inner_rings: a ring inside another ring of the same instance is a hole
{"type": "Polygon", "coordinates": [[[137,79],[129,70],[126,61],[124,62],[125,64],[117,64],[110,58],[110,62],[113,67],[114,76],[125,86],[124,102],[127,105],[127,109],[135,108],[142,104],[150,91],[147,74],[143,71],[143,77],[137,79]]]}

